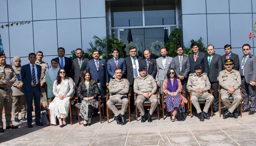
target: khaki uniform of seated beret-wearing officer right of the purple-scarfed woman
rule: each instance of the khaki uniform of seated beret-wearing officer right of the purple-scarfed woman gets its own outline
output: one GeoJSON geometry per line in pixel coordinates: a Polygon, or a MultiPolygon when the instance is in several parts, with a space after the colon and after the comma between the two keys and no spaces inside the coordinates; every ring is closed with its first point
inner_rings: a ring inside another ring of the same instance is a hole
{"type": "Polygon", "coordinates": [[[206,104],[204,105],[203,111],[205,113],[208,112],[210,105],[213,102],[214,97],[208,93],[208,90],[211,88],[211,83],[206,73],[200,74],[197,76],[196,73],[189,74],[187,89],[191,91],[191,102],[196,108],[197,114],[202,112],[200,105],[198,103],[198,99],[203,98],[206,100],[206,104]],[[204,89],[204,93],[196,92],[196,89],[204,89]]]}

